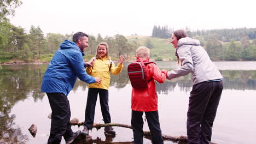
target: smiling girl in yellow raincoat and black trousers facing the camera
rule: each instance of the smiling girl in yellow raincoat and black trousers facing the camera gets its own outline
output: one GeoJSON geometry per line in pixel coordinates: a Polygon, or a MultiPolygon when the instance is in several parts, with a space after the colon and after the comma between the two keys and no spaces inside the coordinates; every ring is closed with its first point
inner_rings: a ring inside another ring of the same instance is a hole
{"type": "MultiPolygon", "coordinates": [[[[108,55],[108,44],[100,43],[97,46],[96,56],[91,58],[90,63],[92,67],[87,67],[86,72],[91,76],[101,78],[101,83],[91,83],[88,89],[88,97],[85,109],[85,122],[82,134],[88,135],[89,130],[92,129],[94,124],[95,105],[97,101],[97,95],[100,95],[101,112],[104,123],[111,123],[108,106],[108,88],[110,83],[110,73],[118,75],[123,69],[124,57],[119,57],[117,67],[111,61],[108,55]]],[[[115,134],[112,127],[105,127],[104,131],[109,134],[115,134]]]]}

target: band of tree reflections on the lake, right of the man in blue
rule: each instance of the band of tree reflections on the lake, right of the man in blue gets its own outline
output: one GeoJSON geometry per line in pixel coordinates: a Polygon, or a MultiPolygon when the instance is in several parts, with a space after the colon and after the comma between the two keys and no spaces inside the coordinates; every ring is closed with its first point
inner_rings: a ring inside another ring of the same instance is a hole
{"type": "MultiPolygon", "coordinates": [[[[224,77],[224,89],[256,89],[256,70],[220,70],[220,73],[222,73],[224,77]]],[[[130,81],[127,77],[127,69],[125,68],[121,74],[111,75],[110,87],[124,88],[128,83],[130,83],[130,81]]],[[[166,80],[161,84],[156,82],[156,91],[158,93],[168,94],[168,92],[172,92],[177,85],[180,88],[180,91],[190,92],[193,86],[191,74],[173,80],[166,80]]],[[[79,87],[82,87],[82,89],[85,90],[88,87],[88,84],[78,80],[75,83],[73,91],[76,91],[79,87]]]]}

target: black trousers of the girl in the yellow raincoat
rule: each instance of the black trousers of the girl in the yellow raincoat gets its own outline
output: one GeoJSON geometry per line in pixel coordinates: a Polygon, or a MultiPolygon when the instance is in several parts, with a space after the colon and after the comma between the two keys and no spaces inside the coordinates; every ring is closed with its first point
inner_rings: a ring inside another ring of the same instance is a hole
{"type": "Polygon", "coordinates": [[[89,88],[84,121],[84,125],[86,125],[88,129],[92,129],[92,125],[94,124],[95,106],[98,94],[100,95],[101,113],[104,123],[111,122],[108,106],[108,90],[102,88],[89,88]]]}

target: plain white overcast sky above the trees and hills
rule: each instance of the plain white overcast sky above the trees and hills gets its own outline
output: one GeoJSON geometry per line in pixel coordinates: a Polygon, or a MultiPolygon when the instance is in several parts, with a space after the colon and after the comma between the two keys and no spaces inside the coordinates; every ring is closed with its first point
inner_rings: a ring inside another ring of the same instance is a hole
{"type": "Polygon", "coordinates": [[[85,32],[102,37],[151,35],[153,26],[191,30],[256,27],[256,1],[230,0],[21,0],[10,22],[44,34],[85,32]]]}

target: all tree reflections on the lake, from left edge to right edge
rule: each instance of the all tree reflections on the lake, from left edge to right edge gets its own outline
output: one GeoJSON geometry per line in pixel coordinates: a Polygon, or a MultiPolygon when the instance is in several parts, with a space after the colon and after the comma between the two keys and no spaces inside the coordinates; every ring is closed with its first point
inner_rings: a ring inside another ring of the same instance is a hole
{"type": "MultiPolygon", "coordinates": [[[[121,89],[130,85],[126,65],[120,75],[111,75],[110,87],[121,89]]],[[[32,97],[34,102],[43,99],[45,94],[40,92],[40,87],[47,66],[3,65],[0,69],[0,143],[26,143],[28,141],[28,136],[22,134],[21,128],[15,124],[15,115],[11,115],[10,112],[15,104],[28,97],[32,97]]],[[[221,70],[220,73],[224,77],[224,89],[256,90],[256,70],[221,70]]],[[[187,75],[157,84],[157,92],[168,94],[178,86],[180,91],[188,93],[193,85],[190,77],[191,75],[187,75]]],[[[73,91],[81,89],[85,91],[87,88],[86,83],[78,80],[73,91]]]]}

